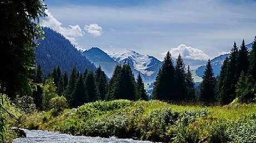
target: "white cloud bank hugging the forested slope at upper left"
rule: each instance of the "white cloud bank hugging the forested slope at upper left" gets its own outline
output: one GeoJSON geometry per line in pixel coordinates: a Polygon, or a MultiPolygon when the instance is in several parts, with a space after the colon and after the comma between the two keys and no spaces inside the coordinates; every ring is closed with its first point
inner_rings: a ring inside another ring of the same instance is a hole
{"type": "Polygon", "coordinates": [[[82,37],[85,33],[83,33],[82,29],[79,25],[69,25],[69,27],[63,27],[62,23],[59,22],[56,18],[54,18],[51,12],[46,9],[47,17],[41,18],[40,25],[43,27],[50,27],[53,30],[61,33],[64,37],[66,37],[70,42],[75,45],[77,48],[81,48],[77,43],[77,38],[82,37]]]}

